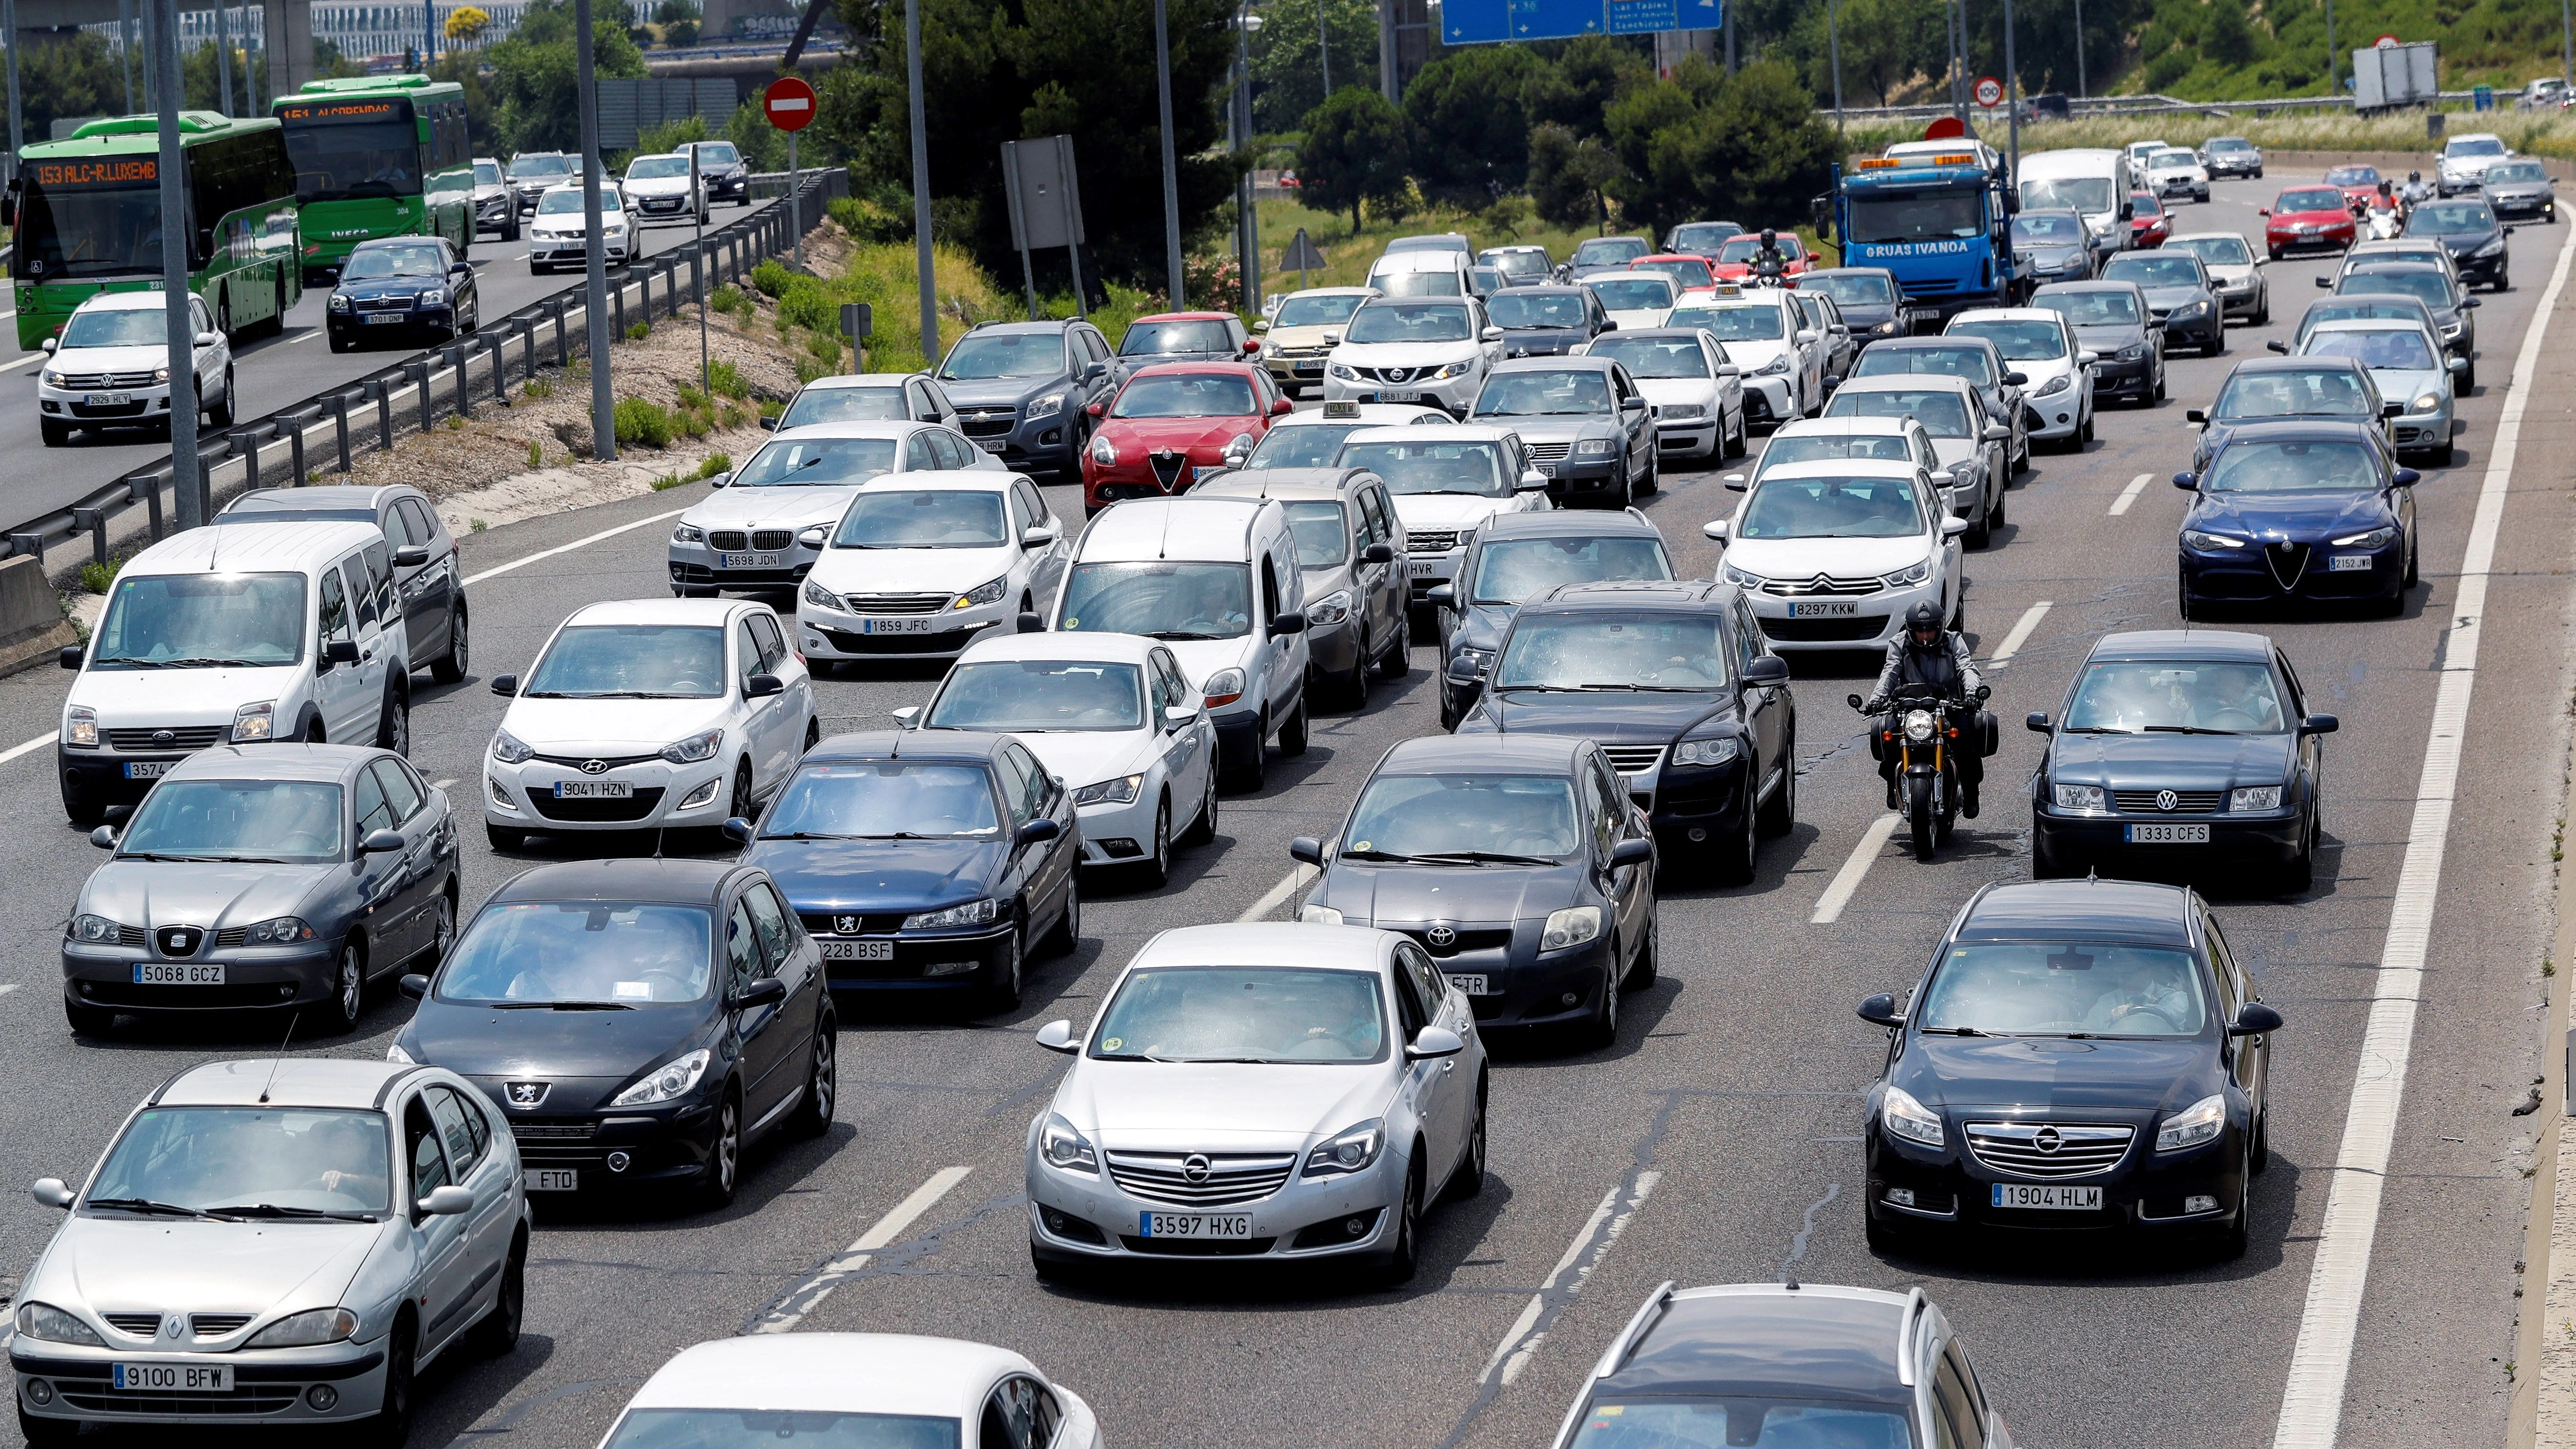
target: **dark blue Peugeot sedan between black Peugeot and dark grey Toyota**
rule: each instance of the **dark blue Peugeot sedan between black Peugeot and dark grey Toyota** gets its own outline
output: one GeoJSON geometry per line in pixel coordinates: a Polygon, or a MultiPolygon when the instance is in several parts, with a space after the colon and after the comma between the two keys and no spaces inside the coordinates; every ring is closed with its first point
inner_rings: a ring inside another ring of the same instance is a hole
{"type": "Polygon", "coordinates": [[[837,734],[750,831],[822,942],[832,991],[1020,1004],[1030,950],[1082,934],[1074,793],[1025,744],[974,731],[837,734]]]}

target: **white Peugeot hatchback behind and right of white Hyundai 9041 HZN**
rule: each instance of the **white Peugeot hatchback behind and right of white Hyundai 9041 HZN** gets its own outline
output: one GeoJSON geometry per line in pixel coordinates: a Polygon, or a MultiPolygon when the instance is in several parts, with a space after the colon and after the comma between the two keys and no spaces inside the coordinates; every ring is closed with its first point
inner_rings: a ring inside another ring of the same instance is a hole
{"type": "Polygon", "coordinates": [[[953,659],[1056,597],[1074,540],[1020,474],[894,474],[860,489],[796,592],[806,661],[953,659]]]}

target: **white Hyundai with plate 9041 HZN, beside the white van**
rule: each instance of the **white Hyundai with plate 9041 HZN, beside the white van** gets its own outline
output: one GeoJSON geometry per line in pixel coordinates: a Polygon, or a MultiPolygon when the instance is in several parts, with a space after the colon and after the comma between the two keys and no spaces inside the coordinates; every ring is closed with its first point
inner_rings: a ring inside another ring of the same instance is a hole
{"type": "Polygon", "coordinates": [[[484,752],[484,831],[721,826],[760,813],[814,744],[814,682],[744,600],[585,605],[554,628],[484,752]]]}

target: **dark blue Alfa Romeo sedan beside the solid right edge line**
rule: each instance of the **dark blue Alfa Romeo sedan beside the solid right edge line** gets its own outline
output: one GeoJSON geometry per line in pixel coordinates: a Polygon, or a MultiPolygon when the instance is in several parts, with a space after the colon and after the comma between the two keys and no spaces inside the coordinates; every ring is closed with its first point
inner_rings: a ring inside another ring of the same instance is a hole
{"type": "Polygon", "coordinates": [[[2416,584],[2414,486],[2370,422],[2259,422],[2197,474],[2182,517],[2182,618],[2205,605],[2367,602],[2416,584]]]}

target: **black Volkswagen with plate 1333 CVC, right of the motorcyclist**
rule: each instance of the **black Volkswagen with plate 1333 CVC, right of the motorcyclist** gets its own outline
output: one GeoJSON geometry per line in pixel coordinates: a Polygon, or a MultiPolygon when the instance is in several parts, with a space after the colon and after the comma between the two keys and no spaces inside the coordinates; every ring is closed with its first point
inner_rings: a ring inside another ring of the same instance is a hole
{"type": "Polygon", "coordinates": [[[2094,862],[2177,872],[2313,875],[2318,736],[2290,659],[2259,633],[2112,633],[2076,669],[2058,718],[2030,715],[2048,759],[2030,777],[2030,872],[2094,862]]]}

